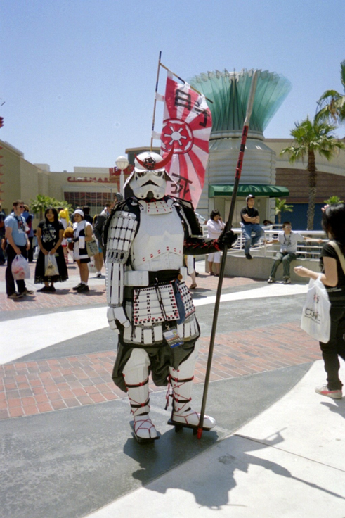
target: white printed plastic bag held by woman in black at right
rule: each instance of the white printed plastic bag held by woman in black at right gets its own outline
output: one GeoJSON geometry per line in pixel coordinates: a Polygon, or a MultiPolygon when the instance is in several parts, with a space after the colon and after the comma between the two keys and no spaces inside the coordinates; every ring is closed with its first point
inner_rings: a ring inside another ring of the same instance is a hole
{"type": "Polygon", "coordinates": [[[330,306],[328,293],[321,282],[321,275],[316,280],[311,279],[302,312],[301,328],[315,340],[323,343],[330,340],[330,306]]]}

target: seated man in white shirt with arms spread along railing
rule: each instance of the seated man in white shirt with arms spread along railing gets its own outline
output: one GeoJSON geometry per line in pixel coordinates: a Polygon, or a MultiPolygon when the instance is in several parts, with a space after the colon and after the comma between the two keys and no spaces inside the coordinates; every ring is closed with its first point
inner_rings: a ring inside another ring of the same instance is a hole
{"type": "Polygon", "coordinates": [[[282,263],[283,268],[283,283],[291,284],[290,279],[290,263],[296,259],[297,243],[299,241],[314,241],[316,243],[322,243],[322,239],[312,239],[311,237],[305,237],[296,232],[292,232],[292,225],[289,221],[285,221],[282,224],[282,232],[278,232],[278,239],[272,239],[271,241],[265,241],[266,244],[271,245],[273,243],[280,243],[280,251],[276,253],[275,260],[272,266],[271,275],[268,279],[268,284],[275,282],[275,274],[278,266],[282,263]]]}

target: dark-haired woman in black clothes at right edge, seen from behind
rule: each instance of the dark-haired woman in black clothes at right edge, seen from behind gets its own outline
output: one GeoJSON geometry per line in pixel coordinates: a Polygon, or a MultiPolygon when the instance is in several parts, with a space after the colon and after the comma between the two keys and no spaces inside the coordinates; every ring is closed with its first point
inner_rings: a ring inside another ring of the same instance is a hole
{"type": "MultiPolygon", "coordinates": [[[[329,398],[340,399],[342,386],[339,379],[339,356],[345,360],[345,205],[327,206],[323,210],[323,229],[331,241],[323,246],[320,255],[321,282],[325,284],[330,298],[330,340],[320,342],[323,353],[327,384],[315,391],[329,398]]],[[[300,277],[318,279],[318,272],[301,266],[294,268],[300,277]]]]}

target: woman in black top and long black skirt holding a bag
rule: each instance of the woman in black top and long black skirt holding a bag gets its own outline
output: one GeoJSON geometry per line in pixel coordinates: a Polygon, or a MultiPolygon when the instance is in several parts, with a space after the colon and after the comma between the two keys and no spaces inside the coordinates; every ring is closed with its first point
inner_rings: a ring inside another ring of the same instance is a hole
{"type": "Polygon", "coordinates": [[[34,270],[35,284],[44,283],[37,291],[56,291],[54,282],[65,282],[68,279],[67,266],[63,255],[63,225],[58,220],[56,208],[47,208],[44,220],[37,227],[37,243],[39,255],[34,270]]]}

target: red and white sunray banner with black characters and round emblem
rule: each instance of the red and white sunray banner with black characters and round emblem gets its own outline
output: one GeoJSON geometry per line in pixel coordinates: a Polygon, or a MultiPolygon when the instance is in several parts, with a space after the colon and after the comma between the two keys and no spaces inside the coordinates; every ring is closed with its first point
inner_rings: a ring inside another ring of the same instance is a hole
{"type": "Polygon", "coordinates": [[[161,155],[167,156],[174,146],[166,170],[176,182],[168,182],[167,194],[191,201],[196,208],[209,158],[211,111],[203,95],[189,84],[176,83],[169,73],[164,101],[161,155]]]}

